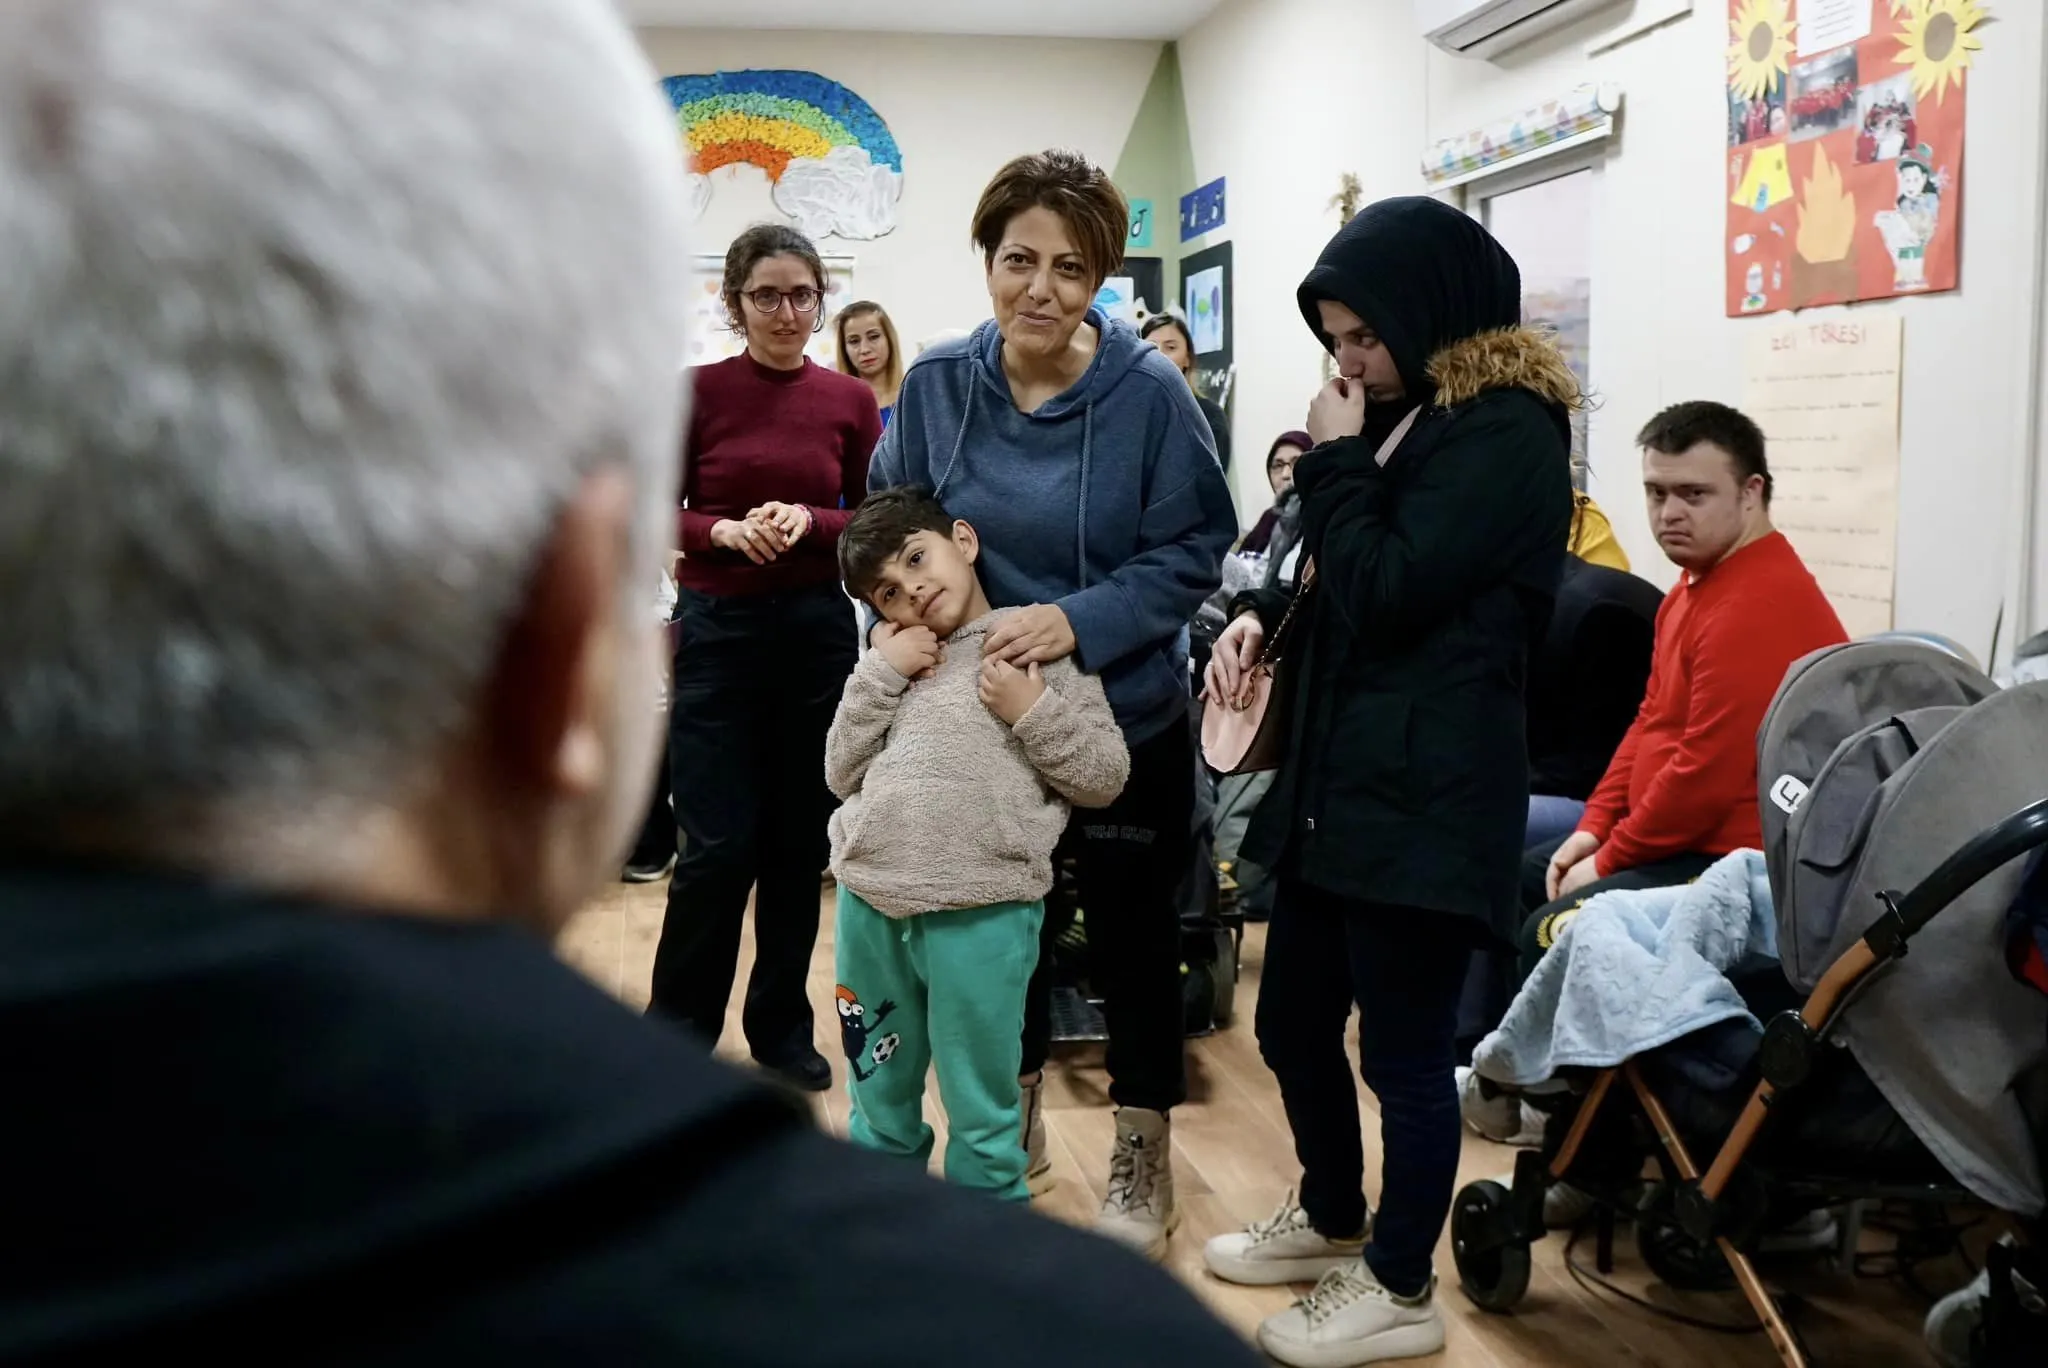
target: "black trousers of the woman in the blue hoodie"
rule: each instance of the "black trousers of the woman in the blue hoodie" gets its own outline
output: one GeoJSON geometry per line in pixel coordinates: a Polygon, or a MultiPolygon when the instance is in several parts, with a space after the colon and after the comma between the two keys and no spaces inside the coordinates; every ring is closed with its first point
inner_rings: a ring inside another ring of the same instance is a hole
{"type": "MultiPolygon", "coordinates": [[[[1087,963],[1110,1028],[1110,1100],[1167,1112],[1188,1100],[1182,1059],[1180,903],[1194,854],[1194,737],[1180,723],[1130,747],[1130,782],[1116,803],[1075,809],[1059,858],[1075,860],[1087,915],[1087,963]]],[[[1051,934],[1024,997],[1024,1073],[1044,1067],[1053,1040],[1051,934]]]]}

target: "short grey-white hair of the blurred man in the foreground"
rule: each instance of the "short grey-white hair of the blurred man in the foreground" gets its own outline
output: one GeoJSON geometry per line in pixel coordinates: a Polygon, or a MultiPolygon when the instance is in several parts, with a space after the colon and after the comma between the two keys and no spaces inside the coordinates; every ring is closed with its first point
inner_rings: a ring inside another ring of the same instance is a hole
{"type": "Polygon", "coordinates": [[[0,6],[0,823],[379,801],[606,465],[643,621],[684,170],[610,0],[0,6]]]}

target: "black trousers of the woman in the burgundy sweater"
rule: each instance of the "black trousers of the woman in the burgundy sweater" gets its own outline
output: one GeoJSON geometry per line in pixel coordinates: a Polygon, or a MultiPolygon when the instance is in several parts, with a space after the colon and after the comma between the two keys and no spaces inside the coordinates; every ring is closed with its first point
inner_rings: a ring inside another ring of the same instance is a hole
{"type": "Polygon", "coordinates": [[[836,584],[764,596],[682,590],[668,715],[682,856],[653,956],[651,1012],[717,1044],[754,891],[741,1026],[756,1059],[811,1049],[805,991],[827,860],[825,731],[858,657],[836,584]]]}

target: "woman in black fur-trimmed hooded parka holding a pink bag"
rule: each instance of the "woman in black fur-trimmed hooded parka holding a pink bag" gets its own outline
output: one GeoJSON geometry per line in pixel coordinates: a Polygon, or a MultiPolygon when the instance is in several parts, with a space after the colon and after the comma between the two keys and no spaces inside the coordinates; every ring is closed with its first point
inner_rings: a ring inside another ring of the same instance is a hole
{"type": "MultiPolygon", "coordinates": [[[[1352,219],[1300,311],[1339,375],[1294,467],[1315,582],[1278,643],[1290,739],[1245,856],[1280,877],[1257,1034],[1303,1182],[1206,1259],[1231,1282],[1321,1278],[1260,1329],[1282,1364],[1370,1364],[1444,1345],[1432,1251],[1458,1171],[1458,993],[1473,948],[1520,920],[1522,688],[1563,567],[1581,395],[1520,324],[1513,258],[1432,199],[1352,219]],[[1376,1219],[1343,1057],[1354,1001],[1380,1106],[1376,1219]]],[[[1217,704],[1245,698],[1284,610],[1274,592],[1233,604],[1217,704]]]]}

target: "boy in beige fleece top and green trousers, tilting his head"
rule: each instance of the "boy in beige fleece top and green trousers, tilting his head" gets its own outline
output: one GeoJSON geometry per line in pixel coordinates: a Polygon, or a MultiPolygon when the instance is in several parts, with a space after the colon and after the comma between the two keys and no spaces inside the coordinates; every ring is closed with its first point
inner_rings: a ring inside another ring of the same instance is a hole
{"type": "Polygon", "coordinates": [[[981,659],[1006,614],[975,528],[924,489],[870,496],[840,539],[872,647],[825,739],[840,1042],[856,1145],[932,1153],[926,1067],[946,1104],[946,1178],[1026,1200],[1018,1141],[1024,989],[1067,805],[1108,807],[1130,772],[1102,684],[1073,661],[981,659]]]}

